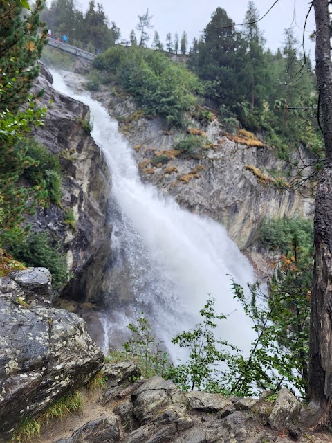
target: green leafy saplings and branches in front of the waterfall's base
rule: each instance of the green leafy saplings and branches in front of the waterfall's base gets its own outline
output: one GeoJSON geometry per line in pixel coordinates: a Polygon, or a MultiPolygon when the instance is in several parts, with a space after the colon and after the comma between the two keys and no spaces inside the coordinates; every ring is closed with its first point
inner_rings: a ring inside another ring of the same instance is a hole
{"type": "Polygon", "coordinates": [[[172,340],[189,351],[187,361],[169,361],[144,316],[137,325],[129,325],[132,334],[122,356],[138,359],[145,377],[163,375],[183,390],[247,397],[285,386],[296,388],[299,397],[307,399],[312,223],[300,218],[272,220],[264,224],[261,235],[270,250],[282,253],[271,266],[268,293],[252,284],[246,296],[243,288],[232,282],[234,298],[252,320],[256,333],[248,356],[216,338],[217,322],[225,316],[216,313],[211,297],[200,311],[201,323],[172,340]]]}

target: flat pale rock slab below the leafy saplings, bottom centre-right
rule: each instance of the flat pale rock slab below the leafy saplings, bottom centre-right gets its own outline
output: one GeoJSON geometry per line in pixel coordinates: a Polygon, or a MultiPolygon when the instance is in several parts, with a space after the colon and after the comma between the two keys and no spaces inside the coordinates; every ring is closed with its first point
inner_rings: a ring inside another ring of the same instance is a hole
{"type": "Polygon", "coordinates": [[[209,392],[193,391],[186,393],[189,399],[190,407],[205,412],[225,412],[231,413],[234,409],[232,401],[226,399],[220,394],[210,394],[209,392]]]}

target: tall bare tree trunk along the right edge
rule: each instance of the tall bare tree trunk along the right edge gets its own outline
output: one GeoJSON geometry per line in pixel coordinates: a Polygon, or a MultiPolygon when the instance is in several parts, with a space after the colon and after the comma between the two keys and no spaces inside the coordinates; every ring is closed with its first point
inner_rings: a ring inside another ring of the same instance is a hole
{"type": "Polygon", "coordinates": [[[308,408],[301,422],[329,425],[332,383],[332,63],[329,1],[313,0],[316,21],[316,75],[326,162],[315,202],[315,265],[311,291],[308,408]]]}

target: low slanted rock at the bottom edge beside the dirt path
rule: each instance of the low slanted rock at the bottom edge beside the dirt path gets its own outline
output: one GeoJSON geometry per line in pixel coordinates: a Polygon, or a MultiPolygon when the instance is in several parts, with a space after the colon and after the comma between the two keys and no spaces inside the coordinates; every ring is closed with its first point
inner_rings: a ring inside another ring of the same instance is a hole
{"type": "Polygon", "coordinates": [[[120,426],[116,417],[107,417],[84,424],[71,437],[55,443],[115,443],[120,440],[120,426]]]}

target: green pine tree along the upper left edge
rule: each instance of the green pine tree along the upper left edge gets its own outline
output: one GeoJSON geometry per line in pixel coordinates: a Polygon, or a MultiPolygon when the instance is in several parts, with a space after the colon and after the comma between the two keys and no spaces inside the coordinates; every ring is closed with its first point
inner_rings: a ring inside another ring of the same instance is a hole
{"type": "Polygon", "coordinates": [[[46,39],[45,33],[37,35],[42,7],[37,0],[28,14],[17,1],[0,3],[0,246],[24,235],[23,215],[42,198],[37,188],[18,184],[24,169],[34,163],[18,142],[41,123],[43,114],[35,108],[40,94],[30,93],[46,39]]]}

